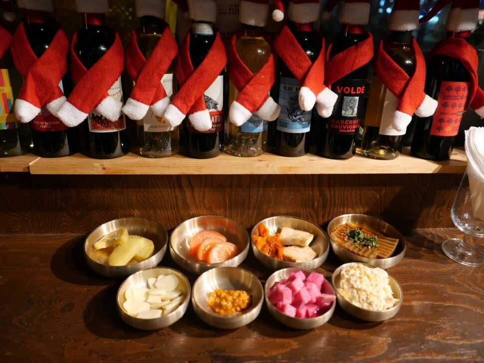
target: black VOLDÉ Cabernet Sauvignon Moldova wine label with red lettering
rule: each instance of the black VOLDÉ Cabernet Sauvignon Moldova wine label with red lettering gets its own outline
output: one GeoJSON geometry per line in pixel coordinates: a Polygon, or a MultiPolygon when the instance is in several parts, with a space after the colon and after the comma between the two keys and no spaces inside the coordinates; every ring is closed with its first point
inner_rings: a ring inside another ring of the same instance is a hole
{"type": "Polygon", "coordinates": [[[366,79],[341,79],[331,89],[338,95],[338,100],[329,118],[328,132],[355,135],[365,114],[366,79]]]}

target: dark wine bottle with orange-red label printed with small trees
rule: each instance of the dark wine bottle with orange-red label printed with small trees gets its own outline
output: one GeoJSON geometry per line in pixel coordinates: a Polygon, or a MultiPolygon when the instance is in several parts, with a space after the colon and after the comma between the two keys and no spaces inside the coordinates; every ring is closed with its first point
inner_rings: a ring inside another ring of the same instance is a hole
{"type": "MultiPolygon", "coordinates": [[[[470,36],[470,31],[449,33],[449,37],[467,40],[470,36]]],[[[438,100],[439,106],[434,116],[417,118],[410,149],[412,155],[428,160],[449,160],[466,107],[467,82],[470,81],[471,75],[460,60],[446,55],[430,57],[425,93],[438,100]]]]}

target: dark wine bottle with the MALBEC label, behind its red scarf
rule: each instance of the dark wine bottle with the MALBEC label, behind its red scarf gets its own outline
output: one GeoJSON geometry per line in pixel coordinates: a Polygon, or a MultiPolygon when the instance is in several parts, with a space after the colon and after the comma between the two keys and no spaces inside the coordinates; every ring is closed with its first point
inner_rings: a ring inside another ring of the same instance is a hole
{"type": "MultiPolygon", "coordinates": [[[[104,14],[83,14],[83,21],[84,27],[77,32],[74,51],[84,67],[89,69],[109,50],[116,33],[105,25],[104,14]]],[[[120,93],[122,101],[121,77],[111,87],[111,91],[114,90],[120,93]]],[[[81,148],[86,156],[114,159],[128,153],[129,133],[123,114],[113,122],[92,110],[81,125],[81,148]]]]}

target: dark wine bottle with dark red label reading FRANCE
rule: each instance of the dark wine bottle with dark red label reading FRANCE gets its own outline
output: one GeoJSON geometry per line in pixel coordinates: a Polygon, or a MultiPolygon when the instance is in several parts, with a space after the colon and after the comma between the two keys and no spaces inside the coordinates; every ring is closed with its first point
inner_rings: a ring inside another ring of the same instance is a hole
{"type": "MultiPolygon", "coordinates": [[[[59,29],[59,24],[47,12],[37,10],[26,10],[23,26],[28,43],[37,57],[49,47],[59,29]]],[[[59,84],[66,97],[72,89],[68,74],[67,72],[59,84]]],[[[29,125],[32,132],[32,153],[35,155],[56,158],[77,152],[77,128],[65,126],[45,105],[29,125]]]]}

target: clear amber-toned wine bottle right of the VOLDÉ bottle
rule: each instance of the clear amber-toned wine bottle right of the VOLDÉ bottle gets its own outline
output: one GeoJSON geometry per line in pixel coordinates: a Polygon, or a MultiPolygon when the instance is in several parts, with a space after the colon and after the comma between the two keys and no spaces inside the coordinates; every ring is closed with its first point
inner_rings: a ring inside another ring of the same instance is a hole
{"type": "MultiPolygon", "coordinates": [[[[390,58],[410,76],[416,67],[411,40],[412,31],[392,31],[384,48],[390,58]]],[[[400,155],[404,132],[392,128],[392,116],[397,106],[397,97],[377,75],[373,75],[361,149],[357,148],[357,154],[382,160],[392,160],[400,155]]]]}

